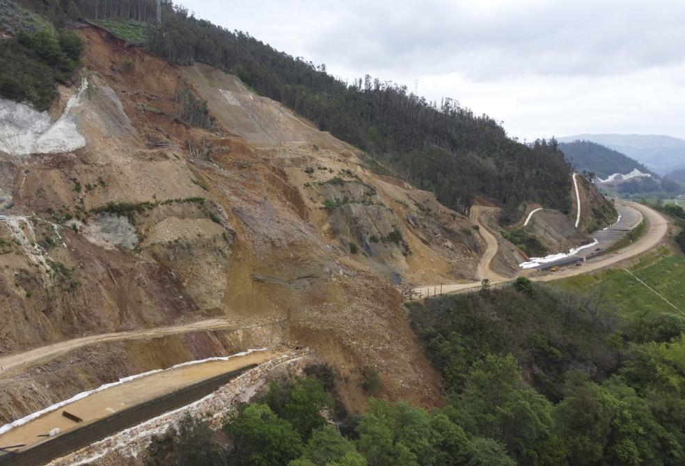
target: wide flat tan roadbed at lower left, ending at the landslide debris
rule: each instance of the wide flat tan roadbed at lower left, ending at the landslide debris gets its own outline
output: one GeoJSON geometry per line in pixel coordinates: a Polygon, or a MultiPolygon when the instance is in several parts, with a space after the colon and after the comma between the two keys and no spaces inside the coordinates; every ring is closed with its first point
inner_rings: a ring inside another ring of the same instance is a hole
{"type": "Polygon", "coordinates": [[[59,428],[62,435],[74,428],[81,428],[88,424],[109,417],[112,414],[139,405],[145,401],[169,394],[202,380],[208,380],[216,375],[235,371],[251,364],[262,364],[276,357],[274,351],[255,351],[249,355],[235,356],[225,361],[203,362],[178,368],[169,369],[145,375],[125,382],[116,387],[97,391],[86,398],[69,403],[47,414],[33,419],[22,426],[17,426],[0,435],[0,445],[24,445],[13,451],[23,451],[41,442],[49,440],[47,433],[59,428]],[[82,422],[74,422],[62,415],[62,412],[77,415],[82,422]]]}

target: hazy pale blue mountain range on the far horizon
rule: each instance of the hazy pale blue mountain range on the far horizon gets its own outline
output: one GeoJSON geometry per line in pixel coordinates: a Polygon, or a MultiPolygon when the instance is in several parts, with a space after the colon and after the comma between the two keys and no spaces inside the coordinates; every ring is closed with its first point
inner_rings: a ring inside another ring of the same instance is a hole
{"type": "Polygon", "coordinates": [[[659,175],[685,169],[685,141],[654,134],[576,134],[559,142],[592,141],[632,157],[659,175]]]}

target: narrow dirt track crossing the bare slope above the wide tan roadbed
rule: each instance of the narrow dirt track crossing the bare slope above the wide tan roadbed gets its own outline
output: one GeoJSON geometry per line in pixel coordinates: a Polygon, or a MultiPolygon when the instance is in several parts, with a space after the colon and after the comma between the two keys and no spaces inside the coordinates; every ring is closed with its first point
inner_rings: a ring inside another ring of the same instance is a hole
{"type": "Polygon", "coordinates": [[[107,343],[108,341],[118,341],[127,339],[147,339],[164,335],[183,334],[190,332],[246,329],[251,327],[258,327],[261,325],[269,325],[278,322],[280,321],[265,322],[253,325],[241,325],[237,323],[231,323],[226,320],[211,319],[201,320],[200,322],[188,323],[183,325],[173,325],[171,327],[158,327],[154,329],[132,330],[130,332],[114,332],[109,334],[84,336],[83,338],[79,339],[54,343],[54,345],[41,346],[40,348],[20,352],[16,355],[0,357],[0,367],[3,368],[3,371],[2,373],[0,373],[0,376],[8,375],[13,370],[24,368],[26,366],[31,366],[38,362],[43,362],[47,359],[52,359],[58,355],[62,355],[65,352],[76,350],[87,345],[93,345],[95,343],[107,343]]]}

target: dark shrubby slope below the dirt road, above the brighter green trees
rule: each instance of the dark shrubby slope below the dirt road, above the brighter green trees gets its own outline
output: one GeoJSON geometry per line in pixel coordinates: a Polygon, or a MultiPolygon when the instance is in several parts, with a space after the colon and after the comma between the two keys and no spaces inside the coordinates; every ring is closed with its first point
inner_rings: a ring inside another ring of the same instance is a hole
{"type": "Polygon", "coordinates": [[[577,300],[543,286],[505,286],[411,303],[409,318],[448,387],[462,388],[469,366],[488,353],[511,353],[526,381],[558,401],[568,371],[583,368],[601,379],[618,364],[605,343],[617,320],[597,312],[596,299],[597,292],[577,300]]]}

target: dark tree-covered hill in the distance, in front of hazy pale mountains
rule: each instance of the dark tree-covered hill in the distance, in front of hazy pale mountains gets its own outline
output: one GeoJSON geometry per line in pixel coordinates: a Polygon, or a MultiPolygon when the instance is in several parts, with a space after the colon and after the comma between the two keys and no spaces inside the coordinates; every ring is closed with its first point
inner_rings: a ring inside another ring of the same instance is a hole
{"type": "Polygon", "coordinates": [[[649,173],[647,167],[636,160],[592,141],[560,143],[559,150],[578,173],[588,171],[602,179],[614,173],[626,174],[636,169],[642,173],[649,173]]]}

